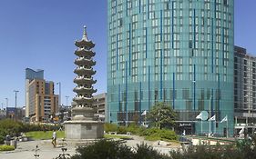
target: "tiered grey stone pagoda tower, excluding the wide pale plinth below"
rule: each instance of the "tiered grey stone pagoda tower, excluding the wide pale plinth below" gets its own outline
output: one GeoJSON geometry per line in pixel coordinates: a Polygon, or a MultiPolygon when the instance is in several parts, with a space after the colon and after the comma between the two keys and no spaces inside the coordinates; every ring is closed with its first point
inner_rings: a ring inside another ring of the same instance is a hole
{"type": "Polygon", "coordinates": [[[75,42],[77,46],[77,50],[75,51],[75,55],[77,55],[77,59],[75,60],[77,68],[74,73],[77,74],[77,77],[74,79],[74,83],[77,84],[77,87],[73,91],[77,95],[73,99],[76,103],[72,110],[73,120],[93,120],[95,113],[92,107],[92,94],[97,92],[92,86],[92,84],[96,83],[92,77],[92,75],[96,74],[96,71],[92,68],[93,65],[96,65],[96,62],[92,59],[95,55],[92,51],[95,44],[87,39],[86,29],[84,27],[82,40],[75,42]]]}

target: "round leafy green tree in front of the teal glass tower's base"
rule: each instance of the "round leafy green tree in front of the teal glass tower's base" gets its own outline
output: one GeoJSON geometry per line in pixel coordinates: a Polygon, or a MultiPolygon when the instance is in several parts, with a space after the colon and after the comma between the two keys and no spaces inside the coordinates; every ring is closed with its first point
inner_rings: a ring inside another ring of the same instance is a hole
{"type": "Polygon", "coordinates": [[[170,128],[175,124],[177,114],[172,110],[169,104],[157,103],[147,114],[147,120],[149,124],[153,124],[155,127],[170,128]]]}

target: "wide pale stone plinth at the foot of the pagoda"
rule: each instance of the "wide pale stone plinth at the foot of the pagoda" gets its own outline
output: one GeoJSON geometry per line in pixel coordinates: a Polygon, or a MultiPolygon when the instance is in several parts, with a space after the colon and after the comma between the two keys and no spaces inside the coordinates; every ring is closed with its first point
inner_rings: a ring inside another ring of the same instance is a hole
{"type": "Polygon", "coordinates": [[[67,139],[97,139],[104,135],[104,122],[76,120],[64,124],[67,139]]]}

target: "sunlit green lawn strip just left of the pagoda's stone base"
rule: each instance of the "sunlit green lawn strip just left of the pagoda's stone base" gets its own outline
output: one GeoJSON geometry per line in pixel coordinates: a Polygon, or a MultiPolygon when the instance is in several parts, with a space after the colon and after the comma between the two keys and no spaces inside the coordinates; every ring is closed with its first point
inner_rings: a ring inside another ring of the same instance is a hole
{"type": "MultiPolygon", "coordinates": [[[[48,140],[51,139],[53,136],[53,131],[36,131],[36,132],[27,132],[27,137],[32,138],[33,140],[48,140]]],[[[65,132],[64,131],[56,131],[56,138],[64,138],[65,132]]]]}

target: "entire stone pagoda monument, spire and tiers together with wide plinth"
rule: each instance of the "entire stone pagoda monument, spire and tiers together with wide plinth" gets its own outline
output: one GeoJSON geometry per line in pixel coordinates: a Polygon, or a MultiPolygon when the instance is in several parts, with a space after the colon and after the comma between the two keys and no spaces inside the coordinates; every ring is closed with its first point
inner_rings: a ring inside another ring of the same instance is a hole
{"type": "Polygon", "coordinates": [[[86,26],[84,26],[83,38],[76,41],[75,45],[77,46],[75,51],[77,68],[74,73],[77,74],[77,77],[74,79],[74,83],[77,86],[73,91],[77,95],[73,98],[72,120],[65,123],[66,136],[67,139],[102,138],[103,123],[94,117],[96,111],[92,106],[92,94],[97,92],[93,89],[93,84],[96,84],[97,81],[93,79],[96,71],[92,68],[96,65],[92,59],[95,55],[92,51],[95,44],[87,39],[86,26]]]}

